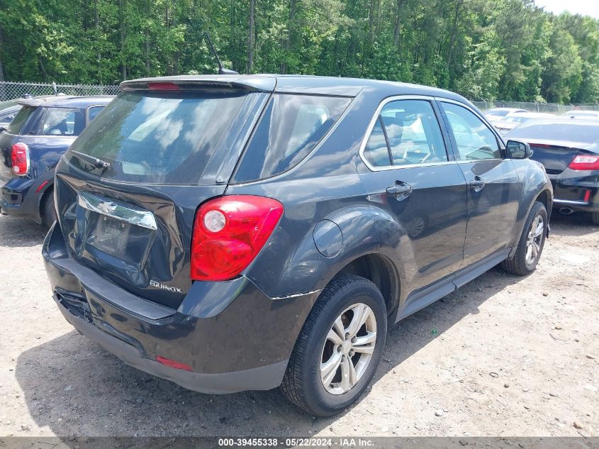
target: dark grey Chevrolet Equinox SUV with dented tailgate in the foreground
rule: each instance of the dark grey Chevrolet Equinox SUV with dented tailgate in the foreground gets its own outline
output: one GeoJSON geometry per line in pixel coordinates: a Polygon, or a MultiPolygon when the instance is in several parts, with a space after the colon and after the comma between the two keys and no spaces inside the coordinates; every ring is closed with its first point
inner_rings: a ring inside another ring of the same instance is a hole
{"type": "Polygon", "coordinates": [[[388,326],[502,263],[532,272],[552,185],[463,97],[365,79],[123,82],[62,158],[43,245],[69,323],[206,393],[364,392],[388,326]]]}

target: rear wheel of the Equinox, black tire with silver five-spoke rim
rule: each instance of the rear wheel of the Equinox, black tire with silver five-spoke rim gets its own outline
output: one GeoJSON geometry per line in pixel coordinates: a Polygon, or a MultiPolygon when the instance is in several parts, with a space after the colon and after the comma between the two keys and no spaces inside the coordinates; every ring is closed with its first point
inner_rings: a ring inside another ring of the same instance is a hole
{"type": "Polygon", "coordinates": [[[318,297],[293,348],[281,384],[287,399],[316,416],[357,401],[383,353],[387,309],[372,282],[337,275],[318,297]]]}

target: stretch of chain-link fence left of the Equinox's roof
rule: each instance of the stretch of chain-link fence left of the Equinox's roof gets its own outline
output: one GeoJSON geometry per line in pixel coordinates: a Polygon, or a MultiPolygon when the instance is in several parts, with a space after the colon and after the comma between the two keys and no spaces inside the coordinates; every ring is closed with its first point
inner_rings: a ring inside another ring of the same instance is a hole
{"type": "Polygon", "coordinates": [[[90,84],[43,84],[30,82],[0,82],[0,101],[7,101],[23,96],[54,95],[56,92],[65,95],[116,95],[121,92],[118,86],[94,86],[90,84]]]}

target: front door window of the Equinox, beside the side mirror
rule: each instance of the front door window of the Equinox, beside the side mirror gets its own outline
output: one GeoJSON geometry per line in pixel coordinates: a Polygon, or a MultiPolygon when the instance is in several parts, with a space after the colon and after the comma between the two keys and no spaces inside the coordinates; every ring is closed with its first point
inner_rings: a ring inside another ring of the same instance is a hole
{"type": "Polygon", "coordinates": [[[468,109],[442,102],[450,131],[457,143],[457,160],[500,159],[495,134],[468,109]]]}

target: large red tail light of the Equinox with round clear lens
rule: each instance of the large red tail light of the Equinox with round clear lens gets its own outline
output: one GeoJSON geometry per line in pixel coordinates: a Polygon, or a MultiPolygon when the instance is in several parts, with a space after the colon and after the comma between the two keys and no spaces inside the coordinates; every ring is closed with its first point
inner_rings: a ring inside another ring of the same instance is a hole
{"type": "Polygon", "coordinates": [[[200,206],[191,239],[191,279],[224,281],[250,265],[283,215],[262,196],[231,195],[200,206]]]}

